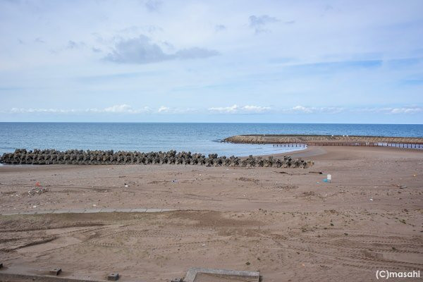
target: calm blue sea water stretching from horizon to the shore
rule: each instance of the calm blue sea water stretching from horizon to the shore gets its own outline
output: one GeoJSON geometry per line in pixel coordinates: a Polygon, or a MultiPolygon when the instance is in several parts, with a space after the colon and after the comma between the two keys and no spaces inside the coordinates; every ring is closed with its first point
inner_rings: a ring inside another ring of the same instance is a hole
{"type": "Polygon", "coordinates": [[[219,140],[241,134],[329,134],[423,137],[423,125],[316,123],[0,123],[0,154],[25,149],[190,151],[226,156],[274,154],[295,147],[219,140]]]}

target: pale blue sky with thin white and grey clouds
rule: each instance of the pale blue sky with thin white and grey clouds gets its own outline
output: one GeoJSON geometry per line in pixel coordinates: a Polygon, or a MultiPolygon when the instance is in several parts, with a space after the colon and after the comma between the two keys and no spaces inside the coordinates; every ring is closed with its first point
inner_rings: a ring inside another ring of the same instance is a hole
{"type": "Polygon", "coordinates": [[[422,11],[0,0],[0,121],[423,123],[422,11]]]}

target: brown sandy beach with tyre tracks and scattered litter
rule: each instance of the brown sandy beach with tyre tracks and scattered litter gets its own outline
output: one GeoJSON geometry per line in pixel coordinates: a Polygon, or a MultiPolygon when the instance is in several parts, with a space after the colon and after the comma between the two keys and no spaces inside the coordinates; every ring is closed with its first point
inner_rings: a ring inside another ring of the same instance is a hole
{"type": "Polygon", "coordinates": [[[73,278],[118,272],[120,281],[170,281],[197,266],[260,271],[263,281],[372,281],[377,269],[423,270],[422,151],[310,147],[291,155],[315,164],[1,166],[2,214],[177,209],[0,216],[1,271],[60,266],[73,278]],[[29,195],[37,182],[47,192],[29,195]]]}

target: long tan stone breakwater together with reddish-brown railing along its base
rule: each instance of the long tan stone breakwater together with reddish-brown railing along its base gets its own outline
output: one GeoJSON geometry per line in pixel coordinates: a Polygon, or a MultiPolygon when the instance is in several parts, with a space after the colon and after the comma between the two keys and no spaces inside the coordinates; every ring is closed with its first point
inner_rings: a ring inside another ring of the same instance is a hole
{"type": "Polygon", "coordinates": [[[389,146],[423,148],[423,137],[360,135],[235,135],[223,140],[239,144],[303,144],[308,146],[389,146]]]}

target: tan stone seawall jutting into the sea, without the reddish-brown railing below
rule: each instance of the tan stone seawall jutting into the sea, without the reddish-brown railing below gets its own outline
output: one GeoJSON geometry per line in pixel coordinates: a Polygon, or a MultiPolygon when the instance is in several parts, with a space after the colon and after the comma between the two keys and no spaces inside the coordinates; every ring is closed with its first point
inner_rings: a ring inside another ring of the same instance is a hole
{"type": "Polygon", "coordinates": [[[353,135],[235,135],[224,139],[232,143],[328,143],[328,142],[389,142],[403,144],[423,144],[422,137],[383,137],[383,136],[353,136],[353,135]]]}

